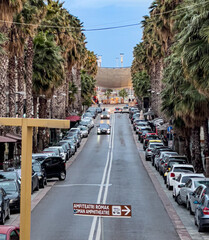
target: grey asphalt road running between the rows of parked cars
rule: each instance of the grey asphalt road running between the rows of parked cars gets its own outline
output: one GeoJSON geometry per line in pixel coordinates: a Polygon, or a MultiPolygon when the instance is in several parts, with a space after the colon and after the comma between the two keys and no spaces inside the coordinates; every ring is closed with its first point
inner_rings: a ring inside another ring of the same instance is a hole
{"type": "MultiPolygon", "coordinates": [[[[100,121],[99,119],[97,122],[100,121]]],[[[144,169],[127,114],[112,114],[112,133],[94,128],[82,152],[32,211],[31,240],[179,239],[144,169]],[[73,215],[73,203],[131,205],[132,218],[73,215]]]]}

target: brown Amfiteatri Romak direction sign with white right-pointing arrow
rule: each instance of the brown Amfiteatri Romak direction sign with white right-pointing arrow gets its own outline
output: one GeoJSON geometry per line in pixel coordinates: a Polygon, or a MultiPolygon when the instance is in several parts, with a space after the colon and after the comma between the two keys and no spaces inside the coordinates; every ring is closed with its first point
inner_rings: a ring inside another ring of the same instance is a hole
{"type": "Polygon", "coordinates": [[[130,205],[108,205],[91,203],[73,203],[74,215],[97,217],[131,217],[130,205]]]}

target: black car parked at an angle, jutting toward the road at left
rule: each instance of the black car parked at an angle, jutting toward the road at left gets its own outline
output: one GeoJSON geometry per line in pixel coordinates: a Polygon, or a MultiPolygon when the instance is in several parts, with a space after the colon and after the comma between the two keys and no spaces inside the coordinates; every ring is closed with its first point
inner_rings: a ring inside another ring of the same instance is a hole
{"type": "Polygon", "coordinates": [[[61,157],[48,157],[42,161],[42,167],[46,171],[47,178],[57,177],[64,181],[66,178],[65,162],[61,157]]]}

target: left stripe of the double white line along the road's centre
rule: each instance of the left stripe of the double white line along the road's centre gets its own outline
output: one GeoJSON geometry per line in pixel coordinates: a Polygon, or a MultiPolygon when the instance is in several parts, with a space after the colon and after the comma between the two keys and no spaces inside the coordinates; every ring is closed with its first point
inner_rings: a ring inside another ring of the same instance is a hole
{"type": "MultiPolygon", "coordinates": [[[[111,119],[111,120],[114,120],[114,119],[115,119],[115,117],[113,115],[113,119],[111,119]]],[[[106,161],[106,165],[105,165],[104,172],[103,172],[103,177],[102,177],[102,182],[101,182],[101,186],[100,186],[100,189],[99,189],[99,194],[98,194],[98,197],[97,197],[97,204],[101,203],[101,197],[102,197],[102,192],[103,192],[103,188],[104,188],[104,182],[105,182],[105,178],[106,178],[106,175],[107,175],[108,166],[109,166],[109,163],[110,163],[110,156],[111,156],[112,143],[113,143],[112,142],[113,134],[114,134],[114,125],[112,126],[111,135],[110,135],[110,139],[109,139],[109,149],[108,149],[108,154],[107,154],[107,161],[106,161]]],[[[91,229],[90,229],[88,240],[93,240],[95,229],[96,229],[97,218],[98,217],[93,217],[93,221],[92,221],[92,224],[91,224],[91,229]]],[[[99,224],[99,225],[100,225],[100,234],[101,234],[101,224],[99,224]]]]}

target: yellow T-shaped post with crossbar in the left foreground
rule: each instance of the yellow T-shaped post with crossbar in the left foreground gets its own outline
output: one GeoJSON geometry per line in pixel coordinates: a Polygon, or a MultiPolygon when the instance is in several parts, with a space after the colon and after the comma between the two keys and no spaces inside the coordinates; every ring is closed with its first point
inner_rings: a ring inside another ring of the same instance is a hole
{"type": "Polygon", "coordinates": [[[0,125],[22,127],[20,239],[30,240],[33,127],[69,128],[69,120],[0,118],[0,125]]]}

